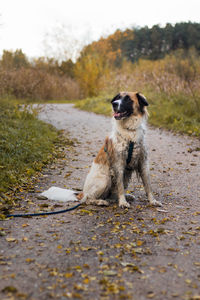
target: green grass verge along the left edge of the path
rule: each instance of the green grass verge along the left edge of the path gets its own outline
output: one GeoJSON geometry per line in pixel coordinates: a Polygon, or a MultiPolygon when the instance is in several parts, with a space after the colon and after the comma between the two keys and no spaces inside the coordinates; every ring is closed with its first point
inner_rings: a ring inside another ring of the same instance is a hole
{"type": "Polygon", "coordinates": [[[1,196],[27,183],[52,158],[58,131],[13,101],[0,100],[1,196]]]}

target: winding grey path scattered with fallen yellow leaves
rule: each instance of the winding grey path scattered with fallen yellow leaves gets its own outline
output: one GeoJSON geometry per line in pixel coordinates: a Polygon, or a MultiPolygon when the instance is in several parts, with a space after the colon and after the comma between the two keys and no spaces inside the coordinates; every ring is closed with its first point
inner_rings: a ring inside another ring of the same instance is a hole
{"type": "MultiPolygon", "coordinates": [[[[66,130],[74,147],[46,169],[19,210],[66,207],[38,200],[57,185],[81,189],[110,118],[47,105],[40,117],[66,130]]],[[[42,142],[42,141],[41,141],[42,142]]],[[[131,209],[88,206],[46,218],[0,223],[0,299],[200,299],[199,141],[149,129],[155,197],[136,178],[131,209]],[[196,150],[195,150],[196,149],[196,150]]]]}

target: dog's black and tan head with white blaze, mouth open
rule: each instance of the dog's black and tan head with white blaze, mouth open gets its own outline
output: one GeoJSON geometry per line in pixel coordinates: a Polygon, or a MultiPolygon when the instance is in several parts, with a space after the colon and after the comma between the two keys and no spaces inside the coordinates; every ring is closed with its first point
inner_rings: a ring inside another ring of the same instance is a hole
{"type": "Polygon", "coordinates": [[[146,98],[138,92],[121,92],[112,101],[113,116],[116,120],[130,117],[131,115],[144,115],[145,106],[148,106],[146,98]]]}

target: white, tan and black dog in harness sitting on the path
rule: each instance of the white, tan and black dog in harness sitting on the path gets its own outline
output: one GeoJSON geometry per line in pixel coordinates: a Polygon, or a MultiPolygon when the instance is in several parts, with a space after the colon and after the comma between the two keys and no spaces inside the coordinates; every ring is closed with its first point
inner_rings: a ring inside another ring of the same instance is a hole
{"type": "MultiPolygon", "coordinates": [[[[121,92],[111,101],[113,117],[112,132],[95,157],[86,177],[83,192],[60,189],[60,200],[72,200],[75,196],[81,203],[109,205],[108,199],[117,199],[119,207],[129,208],[125,189],[133,172],[141,177],[150,205],[162,206],[153,197],[148,152],[145,144],[148,102],[139,92],[121,92]]],[[[49,199],[59,200],[59,188],[42,193],[49,199]]],[[[129,195],[130,198],[131,195],[129,195]]],[[[132,197],[133,198],[133,197],[132,197]]]]}

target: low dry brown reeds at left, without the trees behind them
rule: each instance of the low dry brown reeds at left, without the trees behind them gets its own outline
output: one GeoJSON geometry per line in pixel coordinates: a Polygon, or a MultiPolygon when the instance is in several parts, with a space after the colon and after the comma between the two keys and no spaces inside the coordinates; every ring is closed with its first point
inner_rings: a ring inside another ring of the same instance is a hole
{"type": "Polygon", "coordinates": [[[75,80],[56,76],[35,68],[0,70],[0,96],[17,99],[68,100],[77,99],[80,89],[75,80]]]}

